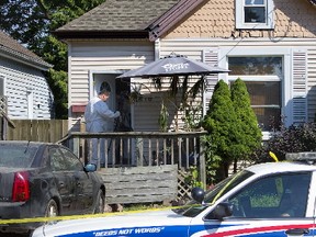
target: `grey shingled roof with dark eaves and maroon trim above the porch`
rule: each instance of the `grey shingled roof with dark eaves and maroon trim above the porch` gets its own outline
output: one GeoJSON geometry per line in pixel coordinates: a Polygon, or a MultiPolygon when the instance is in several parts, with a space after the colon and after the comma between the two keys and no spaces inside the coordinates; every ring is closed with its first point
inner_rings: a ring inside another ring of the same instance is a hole
{"type": "Polygon", "coordinates": [[[207,0],[106,0],[57,29],[59,38],[149,38],[154,41],[207,0]]]}

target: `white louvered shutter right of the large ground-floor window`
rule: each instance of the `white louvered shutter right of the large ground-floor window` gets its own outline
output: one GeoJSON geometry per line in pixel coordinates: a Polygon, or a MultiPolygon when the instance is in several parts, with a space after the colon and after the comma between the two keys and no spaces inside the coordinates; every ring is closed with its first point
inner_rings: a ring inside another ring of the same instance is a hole
{"type": "Polygon", "coordinates": [[[293,52],[293,124],[307,122],[306,52],[293,52]]]}

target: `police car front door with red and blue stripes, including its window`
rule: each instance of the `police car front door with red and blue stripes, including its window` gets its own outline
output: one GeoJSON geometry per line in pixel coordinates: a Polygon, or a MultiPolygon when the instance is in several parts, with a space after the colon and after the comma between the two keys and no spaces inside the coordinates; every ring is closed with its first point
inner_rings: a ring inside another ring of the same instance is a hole
{"type": "Polygon", "coordinates": [[[311,181],[312,172],[257,179],[223,200],[233,207],[232,216],[218,219],[211,211],[202,218],[205,230],[190,236],[314,236],[311,181]]]}

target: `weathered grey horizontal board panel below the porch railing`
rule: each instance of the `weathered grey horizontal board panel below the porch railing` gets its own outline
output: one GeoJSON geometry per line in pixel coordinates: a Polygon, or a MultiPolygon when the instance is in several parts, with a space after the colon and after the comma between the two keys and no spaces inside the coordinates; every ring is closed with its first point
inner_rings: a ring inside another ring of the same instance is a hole
{"type": "Polygon", "coordinates": [[[106,204],[155,203],[178,200],[178,166],[101,168],[106,204]]]}

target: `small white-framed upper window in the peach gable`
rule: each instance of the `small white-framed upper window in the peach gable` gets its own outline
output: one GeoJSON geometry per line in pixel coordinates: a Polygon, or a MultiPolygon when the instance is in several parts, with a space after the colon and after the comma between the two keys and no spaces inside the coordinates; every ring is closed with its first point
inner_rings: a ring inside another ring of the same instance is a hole
{"type": "Polygon", "coordinates": [[[273,0],[236,0],[236,29],[273,30],[273,0]]]}

